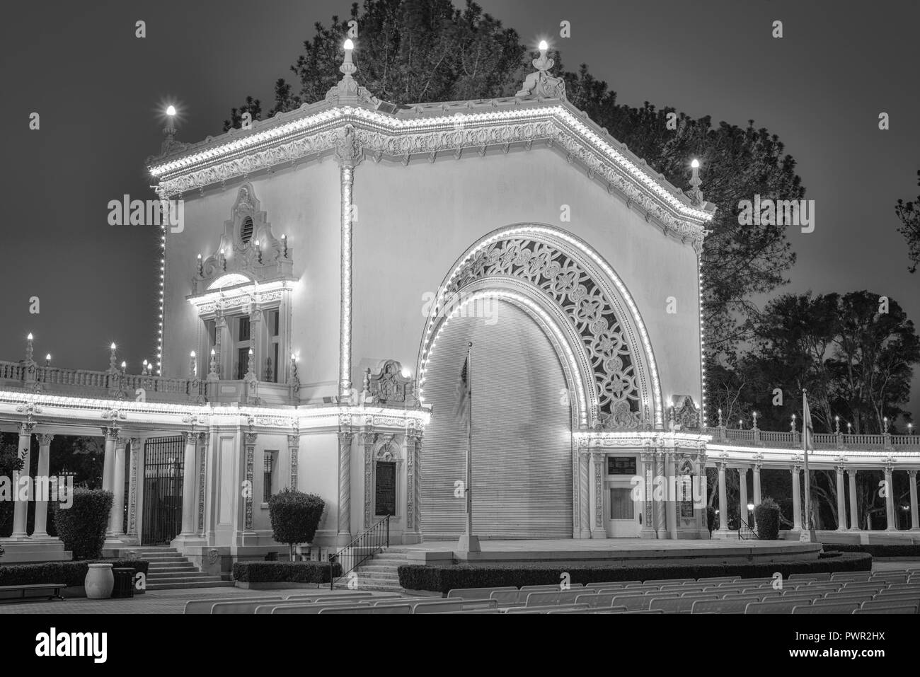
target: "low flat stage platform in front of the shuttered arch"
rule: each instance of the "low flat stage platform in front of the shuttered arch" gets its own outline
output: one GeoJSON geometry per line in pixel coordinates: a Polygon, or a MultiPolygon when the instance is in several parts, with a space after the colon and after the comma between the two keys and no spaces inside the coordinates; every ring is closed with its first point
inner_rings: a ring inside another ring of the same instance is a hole
{"type": "Polygon", "coordinates": [[[495,565],[540,562],[587,567],[592,564],[741,564],[817,559],[820,543],[791,541],[649,540],[644,538],[480,541],[482,552],[456,551],[453,541],[393,545],[386,552],[405,555],[410,564],[495,565]]]}

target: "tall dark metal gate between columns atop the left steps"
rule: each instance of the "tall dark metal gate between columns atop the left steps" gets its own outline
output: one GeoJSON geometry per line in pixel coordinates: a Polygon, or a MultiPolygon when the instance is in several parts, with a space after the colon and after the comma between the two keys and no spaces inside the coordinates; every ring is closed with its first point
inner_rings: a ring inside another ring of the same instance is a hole
{"type": "Polygon", "coordinates": [[[185,438],[156,437],[144,444],[144,524],[141,545],[165,545],[182,529],[185,438]]]}

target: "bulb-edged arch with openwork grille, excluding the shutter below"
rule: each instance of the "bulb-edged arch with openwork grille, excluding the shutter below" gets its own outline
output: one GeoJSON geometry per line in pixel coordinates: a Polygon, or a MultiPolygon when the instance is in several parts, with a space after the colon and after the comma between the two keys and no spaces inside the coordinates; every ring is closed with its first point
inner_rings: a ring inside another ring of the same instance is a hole
{"type": "Polygon", "coordinates": [[[567,365],[576,430],[662,429],[658,368],[626,285],[592,247],[547,224],[499,228],[457,259],[425,323],[422,398],[439,331],[477,294],[514,298],[544,322],[567,365]]]}

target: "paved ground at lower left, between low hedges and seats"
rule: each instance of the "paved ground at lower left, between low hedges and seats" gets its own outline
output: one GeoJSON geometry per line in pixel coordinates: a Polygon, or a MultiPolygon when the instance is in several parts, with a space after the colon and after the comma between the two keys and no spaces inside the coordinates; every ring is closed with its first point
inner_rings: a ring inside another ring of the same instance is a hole
{"type": "MultiPolygon", "coordinates": [[[[194,590],[147,591],[126,600],[87,600],[74,598],[47,602],[0,602],[0,614],[181,614],[189,600],[239,597],[319,597],[339,595],[327,588],[285,588],[284,590],[243,590],[242,588],[196,588],[194,590]]],[[[373,594],[385,594],[374,592],[373,594]]]]}

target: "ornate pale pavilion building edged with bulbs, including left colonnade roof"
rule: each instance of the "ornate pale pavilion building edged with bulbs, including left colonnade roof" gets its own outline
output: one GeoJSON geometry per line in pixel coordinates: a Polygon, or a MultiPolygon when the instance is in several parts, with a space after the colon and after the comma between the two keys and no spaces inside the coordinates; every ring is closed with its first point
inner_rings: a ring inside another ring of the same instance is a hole
{"type": "Polygon", "coordinates": [[[705,498],[653,484],[705,477],[714,206],[696,167],[675,188],[534,65],[513,97],[397,108],[347,50],[322,101],[200,143],[167,128],[148,166],[184,218],[158,364],[0,370],[8,430],[106,434],[109,548],[260,558],[285,487],[326,500],[315,545],[385,515],[391,543],[455,541],[470,343],[479,538],[708,537],[705,498]]]}

